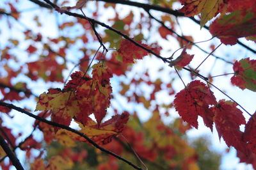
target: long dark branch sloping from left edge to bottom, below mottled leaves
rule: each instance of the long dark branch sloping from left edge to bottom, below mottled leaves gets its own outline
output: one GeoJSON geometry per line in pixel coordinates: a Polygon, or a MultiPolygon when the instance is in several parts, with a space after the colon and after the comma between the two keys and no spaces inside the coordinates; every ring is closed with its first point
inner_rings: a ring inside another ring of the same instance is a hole
{"type": "Polygon", "coordinates": [[[86,139],[86,141],[88,141],[88,143],[90,143],[90,144],[92,144],[93,146],[95,146],[95,148],[98,148],[99,150],[104,151],[105,153],[108,153],[109,155],[112,155],[113,157],[116,157],[116,158],[118,158],[118,159],[124,161],[125,163],[129,164],[129,166],[134,167],[134,169],[141,169],[141,170],[142,170],[141,167],[135,166],[134,164],[132,164],[132,162],[129,162],[129,160],[126,160],[125,158],[120,157],[119,155],[116,155],[115,153],[113,153],[113,152],[111,152],[111,151],[109,151],[109,150],[106,150],[106,149],[102,148],[101,146],[99,146],[98,144],[96,144],[95,142],[93,142],[92,139],[90,139],[88,136],[86,136],[86,135],[84,135],[83,133],[81,133],[81,132],[75,130],[74,128],[70,128],[70,127],[67,127],[67,126],[65,126],[65,125],[61,125],[61,124],[59,124],[59,123],[55,123],[55,122],[53,122],[53,121],[45,120],[44,118],[41,118],[40,116],[36,116],[35,114],[32,114],[31,112],[28,112],[28,111],[26,111],[26,110],[24,110],[24,109],[22,109],[22,108],[20,108],[20,107],[17,107],[17,106],[15,106],[15,105],[13,105],[13,104],[7,104],[7,103],[5,103],[5,102],[1,102],[1,101],[0,101],[0,105],[3,105],[3,106],[8,107],[8,108],[10,108],[10,109],[14,109],[14,110],[19,111],[19,112],[23,112],[24,114],[27,114],[28,116],[30,116],[30,117],[32,117],[32,118],[35,118],[36,120],[42,121],[42,122],[44,122],[44,123],[47,123],[48,125],[52,125],[52,126],[54,126],[54,127],[60,127],[60,128],[62,128],[62,129],[65,129],[65,130],[68,130],[68,131],[70,131],[70,132],[73,132],[73,133],[75,133],[75,134],[77,134],[77,135],[83,137],[84,139],[86,139]]]}

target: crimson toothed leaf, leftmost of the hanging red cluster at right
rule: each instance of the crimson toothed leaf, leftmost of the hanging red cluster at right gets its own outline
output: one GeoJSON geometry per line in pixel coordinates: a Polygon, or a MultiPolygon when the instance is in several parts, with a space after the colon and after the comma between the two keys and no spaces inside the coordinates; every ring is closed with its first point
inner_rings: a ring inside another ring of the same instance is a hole
{"type": "Polygon", "coordinates": [[[198,128],[197,118],[201,116],[205,125],[212,130],[214,114],[209,105],[216,104],[216,98],[203,82],[190,82],[185,89],[175,95],[173,103],[182,120],[198,128]]]}

